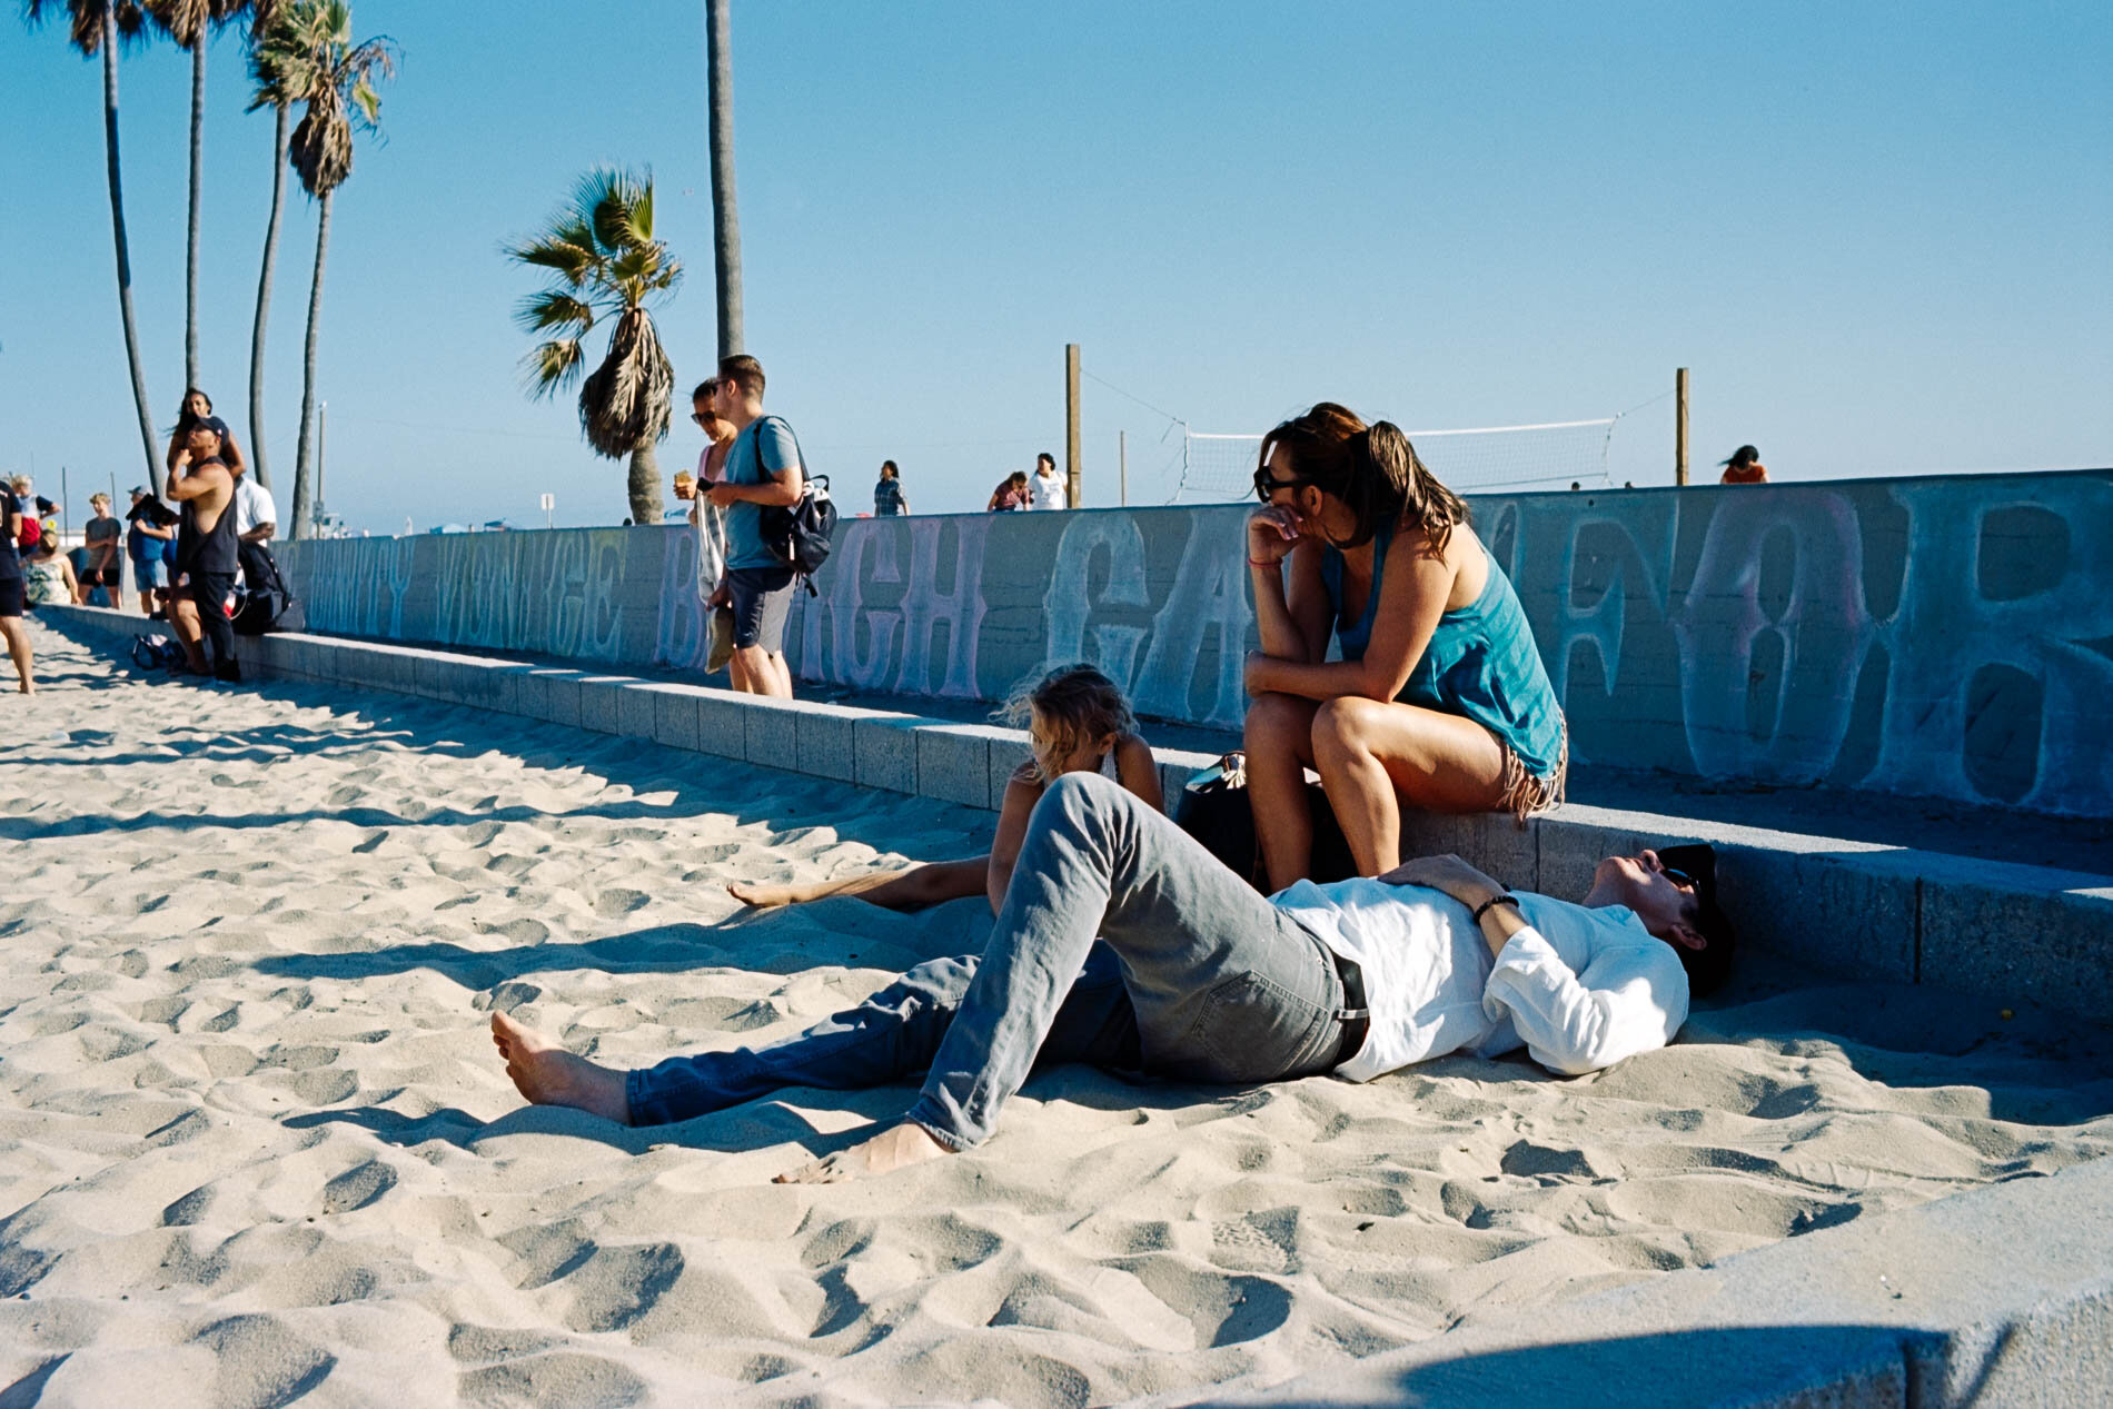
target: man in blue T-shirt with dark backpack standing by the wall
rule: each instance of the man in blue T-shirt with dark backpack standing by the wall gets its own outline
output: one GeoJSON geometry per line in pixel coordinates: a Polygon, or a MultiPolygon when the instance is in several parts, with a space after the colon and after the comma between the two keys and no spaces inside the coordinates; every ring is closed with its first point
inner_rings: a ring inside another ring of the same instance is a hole
{"type": "Polygon", "coordinates": [[[733,689],[750,695],[792,697],[786,665],[786,615],[801,568],[786,560],[786,547],[767,520],[771,509],[797,509],[807,490],[799,442],[784,416],[763,414],[763,363],[735,355],[718,361],[718,414],[737,431],[727,452],[725,480],[697,490],[727,511],[727,594],[733,600],[733,659],[727,674],[733,689]]]}

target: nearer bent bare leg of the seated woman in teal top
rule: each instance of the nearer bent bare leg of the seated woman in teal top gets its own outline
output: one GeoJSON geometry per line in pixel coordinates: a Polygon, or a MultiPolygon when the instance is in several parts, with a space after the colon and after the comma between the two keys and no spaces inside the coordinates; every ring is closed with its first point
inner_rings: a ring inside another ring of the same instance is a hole
{"type": "MultiPolygon", "coordinates": [[[[1475,720],[1441,710],[1329,699],[1314,712],[1312,756],[1361,877],[1401,864],[1403,803],[1443,813],[1504,803],[1504,746],[1475,720]]],[[[1253,754],[1247,767],[1253,779],[1253,754]]]]}

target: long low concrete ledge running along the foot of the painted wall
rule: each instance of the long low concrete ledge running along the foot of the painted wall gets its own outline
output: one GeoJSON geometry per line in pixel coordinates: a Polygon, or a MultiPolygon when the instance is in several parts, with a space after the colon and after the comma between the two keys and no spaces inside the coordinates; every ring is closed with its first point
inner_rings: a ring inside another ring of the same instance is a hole
{"type": "MultiPolygon", "coordinates": [[[[116,638],[169,632],[106,608],[46,606],[38,619],[116,638]]],[[[258,676],[414,693],[970,807],[999,805],[1029,756],[1025,733],[991,725],[328,636],[237,640],[258,676]]],[[[1215,760],[1158,750],[1168,811],[1215,760]]],[[[1526,830],[1500,815],[1403,820],[1405,851],[1456,851],[1509,885],[1551,896],[1585,894],[1602,856],[1676,841],[1716,843],[1724,908],[1750,944],[1847,978],[1942,984],[2113,1022],[2107,877],[1576,805],[1526,830]]]]}

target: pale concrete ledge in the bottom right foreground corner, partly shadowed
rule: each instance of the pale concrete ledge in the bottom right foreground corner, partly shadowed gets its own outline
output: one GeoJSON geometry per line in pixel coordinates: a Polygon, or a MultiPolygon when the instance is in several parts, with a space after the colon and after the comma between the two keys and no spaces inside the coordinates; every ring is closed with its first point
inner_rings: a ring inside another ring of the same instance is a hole
{"type": "Polygon", "coordinates": [[[2113,1403],[2113,1160],[1147,1405],[2113,1403]]]}

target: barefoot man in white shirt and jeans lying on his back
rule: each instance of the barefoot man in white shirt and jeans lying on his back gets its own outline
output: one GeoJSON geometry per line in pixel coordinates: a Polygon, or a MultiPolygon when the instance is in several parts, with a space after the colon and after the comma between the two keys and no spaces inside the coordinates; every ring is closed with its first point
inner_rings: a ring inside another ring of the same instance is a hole
{"type": "Polygon", "coordinates": [[[1158,809],[1067,773],[1035,805],[980,959],[921,963],[765,1048],[640,1071],[573,1056],[503,1012],[492,1041],[528,1101],[632,1126],[925,1071],[902,1124],[780,1175],[837,1183],[980,1145],[1040,1063],[1369,1082],[1523,1046],[1553,1071],[1597,1071],[1665,1046],[1690,984],[1720,982],[1731,951],[1709,847],[1608,858],[1583,904],[1507,891],[1452,856],[1264,898],[1158,809]]]}

